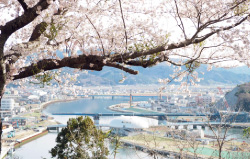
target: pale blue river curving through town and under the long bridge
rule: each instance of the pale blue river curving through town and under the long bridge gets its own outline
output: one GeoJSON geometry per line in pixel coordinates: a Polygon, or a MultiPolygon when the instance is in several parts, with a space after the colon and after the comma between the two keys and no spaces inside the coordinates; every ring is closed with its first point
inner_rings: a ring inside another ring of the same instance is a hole
{"type": "MultiPolygon", "coordinates": [[[[133,101],[147,101],[149,97],[133,97],[133,101]]],[[[95,99],[80,99],[76,101],[64,102],[64,103],[54,103],[49,105],[46,109],[43,110],[43,113],[50,116],[52,113],[115,113],[109,109],[108,106],[119,104],[119,103],[128,103],[129,97],[115,97],[112,98],[95,98],[95,99]]],[[[68,118],[75,116],[53,116],[55,120],[66,124],[68,118]]],[[[41,159],[51,158],[49,150],[56,145],[55,138],[57,133],[48,133],[45,136],[42,136],[36,140],[33,140],[20,148],[17,148],[14,153],[14,158],[16,159],[41,159]]],[[[109,146],[110,147],[110,146],[109,146]]],[[[110,147],[110,149],[112,149],[110,147]]],[[[109,158],[112,157],[112,151],[109,158]]],[[[119,159],[139,159],[151,158],[147,153],[141,151],[136,151],[131,148],[122,148],[117,154],[119,159]]]]}

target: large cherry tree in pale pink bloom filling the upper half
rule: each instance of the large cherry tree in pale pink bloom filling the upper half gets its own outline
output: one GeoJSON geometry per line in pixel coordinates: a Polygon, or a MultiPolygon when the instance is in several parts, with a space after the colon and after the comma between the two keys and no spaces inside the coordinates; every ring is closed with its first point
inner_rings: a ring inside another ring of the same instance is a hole
{"type": "Polygon", "coordinates": [[[195,83],[195,68],[202,63],[208,69],[250,66],[249,3],[1,0],[0,100],[7,84],[63,67],[101,71],[108,66],[137,74],[131,66],[165,61],[179,66],[173,79],[190,75],[188,82],[195,83]],[[187,70],[180,72],[180,66],[187,70]]]}

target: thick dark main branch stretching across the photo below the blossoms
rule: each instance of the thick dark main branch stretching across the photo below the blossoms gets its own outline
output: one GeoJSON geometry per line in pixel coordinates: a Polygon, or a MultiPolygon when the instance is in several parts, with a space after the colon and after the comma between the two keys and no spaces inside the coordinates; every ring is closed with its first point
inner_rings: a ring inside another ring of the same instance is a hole
{"type": "MultiPolygon", "coordinates": [[[[202,42],[217,32],[220,32],[222,30],[229,30],[233,27],[238,26],[239,24],[244,22],[247,19],[247,17],[248,16],[242,18],[239,22],[237,22],[233,26],[228,26],[228,27],[223,27],[221,29],[217,29],[217,30],[210,32],[210,33],[204,35],[203,37],[201,37],[199,39],[195,39],[193,41],[191,41],[190,39],[187,39],[187,40],[180,42],[178,44],[175,44],[175,43],[169,44],[167,47],[162,45],[162,46],[158,46],[156,48],[146,50],[146,51],[141,51],[141,52],[128,53],[128,54],[124,54],[124,55],[121,55],[121,54],[110,55],[110,61],[108,61],[106,63],[106,66],[116,67],[116,68],[122,69],[126,72],[129,72],[131,74],[137,74],[138,72],[131,70],[131,69],[128,69],[126,67],[123,67],[119,63],[121,63],[122,61],[127,61],[128,59],[135,59],[135,58],[142,57],[145,55],[151,55],[151,54],[162,52],[165,50],[172,50],[172,49],[176,49],[176,48],[186,47],[190,44],[202,42]]],[[[157,60],[160,60],[160,58],[157,60]]],[[[155,60],[155,62],[157,62],[157,60],[155,60]]],[[[45,59],[45,60],[39,61],[37,64],[32,64],[28,67],[21,69],[19,71],[20,72],[19,75],[15,75],[13,78],[14,78],[14,80],[20,79],[20,78],[25,78],[25,77],[29,77],[29,76],[32,76],[34,74],[40,73],[42,70],[47,71],[47,70],[57,69],[57,68],[61,68],[61,67],[71,67],[71,68],[80,68],[80,69],[89,69],[89,70],[102,70],[102,67],[104,66],[102,61],[103,61],[103,57],[101,57],[101,56],[86,56],[86,55],[80,55],[79,57],[76,57],[76,58],[68,57],[68,58],[64,58],[62,60],[45,59]],[[37,70],[34,71],[34,68],[37,68],[37,70]]],[[[190,60],[188,63],[191,63],[192,61],[194,61],[194,60],[190,60]]],[[[130,64],[131,65],[139,65],[138,61],[137,62],[130,61],[130,64]]],[[[174,64],[177,65],[176,63],[174,63],[174,64]]],[[[152,65],[152,63],[150,64],[148,62],[147,65],[150,66],[150,65],[152,65]]],[[[147,67],[147,65],[145,65],[145,67],[147,67]]],[[[142,66],[142,64],[141,64],[141,66],[142,66]]]]}

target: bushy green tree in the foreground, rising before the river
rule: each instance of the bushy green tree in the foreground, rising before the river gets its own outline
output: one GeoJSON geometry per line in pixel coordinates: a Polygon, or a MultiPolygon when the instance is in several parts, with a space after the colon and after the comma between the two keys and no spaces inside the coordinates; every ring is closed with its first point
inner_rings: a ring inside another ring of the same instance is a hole
{"type": "Polygon", "coordinates": [[[105,159],[108,149],[104,140],[108,133],[97,129],[89,118],[71,118],[56,138],[57,145],[51,149],[52,157],[60,159],[105,159]]]}

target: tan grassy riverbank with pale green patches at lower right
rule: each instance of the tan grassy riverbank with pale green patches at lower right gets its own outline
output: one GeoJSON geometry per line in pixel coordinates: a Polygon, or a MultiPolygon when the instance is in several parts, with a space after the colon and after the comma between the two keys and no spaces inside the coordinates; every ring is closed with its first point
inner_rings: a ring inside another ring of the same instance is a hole
{"type": "MultiPolygon", "coordinates": [[[[161,128],[162,129],[155,128],[153,131],[147,129],[144,133],[122,137],[121,140],[132,148],[138,147],[138,150],[149,153],[154,152],[161,155],[164,154],[165,156],[177,155],[178,157],[178,155],[185,154],[193,157],[218,158],[219,146],[216,140],[212,141],[203,138],[203,141],[210,141],[204,143],[192,138],[178,139],[166,137],[165,133],[168,131],[168,128],[166,126],[161,126],[161,128]]],[[[175,134],[174,136],[177,135],[178,134],[175,134]]],[[[235,140],[225,141],[222,149],[222,156],[228,159],[239,158],[240,156],[247,156],[248,158],[250,157],[250,145],[235,140]]]]}

